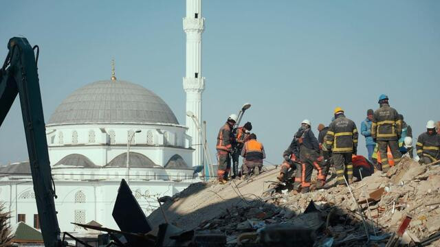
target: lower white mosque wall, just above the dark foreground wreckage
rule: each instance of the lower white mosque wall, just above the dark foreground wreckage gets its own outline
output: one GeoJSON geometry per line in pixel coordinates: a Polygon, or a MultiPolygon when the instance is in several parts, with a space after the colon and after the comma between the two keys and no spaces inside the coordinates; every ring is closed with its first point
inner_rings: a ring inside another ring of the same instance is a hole
{"type": "MultiPolygon", "coordinates": [[[[175,182],[165,180],[130,182],[133,196],[140,204],[146,215],[157,209],[157,197],[173,196],[175,193],[188,187],[193,181],[175,182]]],[[[105,181],[63,181],[55,180],[56,211],[58,211],[58,224],[61,231],[83,231],[71,222],[86,224],[91,220],[108,228],[118,229],[111,213],[120,185],[119,180],[105,181]]],[[[11,211],[11,224],[18,221],[18,214],[25,214],[25,222],[34,226],[34,215],[38,214],[35,204],[35,194],[30,178],[28,180],[0,181],[0,200],[5,204],[5,209],[11,211]]]]}

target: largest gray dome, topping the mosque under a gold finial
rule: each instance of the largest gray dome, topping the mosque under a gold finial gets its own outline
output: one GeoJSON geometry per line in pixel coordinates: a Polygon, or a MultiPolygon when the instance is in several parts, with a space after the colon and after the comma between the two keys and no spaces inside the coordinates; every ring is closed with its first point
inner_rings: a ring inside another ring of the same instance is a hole
{"type": "Polygon", "coordinates": [[[74,91],[48,124],[179,124],[155,93],[122,80],[104,80],[74,91]]]}

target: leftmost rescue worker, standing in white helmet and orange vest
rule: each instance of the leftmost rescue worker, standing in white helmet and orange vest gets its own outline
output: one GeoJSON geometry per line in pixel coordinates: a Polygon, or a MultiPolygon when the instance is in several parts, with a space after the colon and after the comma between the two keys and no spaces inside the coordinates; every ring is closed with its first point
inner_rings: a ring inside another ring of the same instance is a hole
{"type": "Polygon", "coordinates": [[[232,151],[232,143],[234,143],[234,135],[232,134],[232,128],[236,123],[237,116],[231,114],[228,117],[226,124],[222,126],[217,135],[217,161],[219,163],[217,167],[217,179],[220,183],[226,183],[228,178],[228,172],[231,168],[230,153],[232,151]]]}

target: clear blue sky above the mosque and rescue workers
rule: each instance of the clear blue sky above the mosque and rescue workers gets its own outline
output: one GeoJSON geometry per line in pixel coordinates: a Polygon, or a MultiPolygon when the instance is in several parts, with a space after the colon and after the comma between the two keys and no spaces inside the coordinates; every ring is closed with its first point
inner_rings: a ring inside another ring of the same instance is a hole
{"type": "MultiPolygon", "coordinates": [[[[203,117],[217,131],[244,102],[267,160],[311,119],[341,106],[360,128],[386,93],[417,136],[440,120],[440,1],[203,1],[203,117]]],[[[46,121],[80,86],[116,75],[151,89],[185,121],[185,34],[180,1],[7,1],[0,58],[12,36],[41,47],[46,121]]],[[[366,154],[364,138],[360,153],[366,154]]],[[[0,163],[28,158],[18,100],[0,128],[0,163]]]]}

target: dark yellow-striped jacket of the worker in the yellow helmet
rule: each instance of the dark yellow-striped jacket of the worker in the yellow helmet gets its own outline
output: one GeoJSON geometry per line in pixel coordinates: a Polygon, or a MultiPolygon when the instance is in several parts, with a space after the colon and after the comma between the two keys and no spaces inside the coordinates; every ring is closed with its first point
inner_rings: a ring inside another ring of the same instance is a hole
{"type": "Polygon", "coordinates": [[[333,153],[353,152],[353,147],[358,147],[356,124],[343,114],[339,115],[331,122],[324,145],[333,153]]]}

